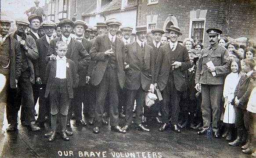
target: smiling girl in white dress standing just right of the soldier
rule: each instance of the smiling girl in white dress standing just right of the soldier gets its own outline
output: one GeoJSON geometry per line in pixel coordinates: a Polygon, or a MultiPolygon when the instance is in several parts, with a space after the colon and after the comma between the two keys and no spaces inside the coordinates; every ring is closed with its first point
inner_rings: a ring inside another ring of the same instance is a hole
{"type": "Polygon", "coordinates": [[[226,140],[231,140],[232,131],[234,131],[234,119],[235,111],[234,106],[231,105],[231,100],[234,98],[234,90],[240,79],[240,61],[235,59],[231,62],[231,73],[227,75],[224,83],[223,96],[225,99],[224,102],[224,119],[223,122],[227,125],[227,132],[223,134],[223,137],[226,135],[226,140]]]}

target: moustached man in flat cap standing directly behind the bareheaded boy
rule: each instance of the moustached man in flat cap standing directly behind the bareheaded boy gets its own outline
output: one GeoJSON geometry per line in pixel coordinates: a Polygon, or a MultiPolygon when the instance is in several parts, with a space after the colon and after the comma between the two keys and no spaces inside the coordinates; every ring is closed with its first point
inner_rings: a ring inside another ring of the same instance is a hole
{"type": "MultiPolygon", "coordinates": [[[[60,21],[59,26],[61,27],[62,35],[61,37],[50,41],[50,47],[46,57],[46,61],[56,60],[57,54],[54,48],[56,47],[56,43],[62,40],[63,42],[68,44],[68,52],[66,54],[66,57],[76,63],[79,80],[82,80],[83,73],[90,62],[90,56],[88,52],[84,49],[82,43],[78,42],[76,39],[71,38],[70,33],[73,30],[73,25],[74,22],[69,19],[64,19],[60,21]]],[[[74,96],[79,96],[79,93],[79,90],[74,89],[74,96]]],[[[67,126],[70,126],[71,114],[72,113],[69,111],[67,126]]]]}

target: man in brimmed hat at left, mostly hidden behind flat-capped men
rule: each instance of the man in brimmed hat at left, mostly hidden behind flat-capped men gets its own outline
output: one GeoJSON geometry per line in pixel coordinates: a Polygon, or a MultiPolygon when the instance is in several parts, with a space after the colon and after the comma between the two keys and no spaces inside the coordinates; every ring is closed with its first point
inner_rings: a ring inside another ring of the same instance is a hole
{"type": "MultiPolygon", "coordinates": [[[[33,37],[33,39],[39,39],[39,35],[38,35],[38,29],[40,27],[40,23],[42,22],[42,17],[36,15],[36,14],[30,14],[29,18],[28,18],[29,22],[30,22],[30,31],[29,31],[29,35],[33,37]]],[[[35,63],[34,67],[35,67],[35,63]]],[[[38,84],[33,84],[32,85],[33,88],[33,96],[34,96],[34,106],[36,106],[36,102],[39,98],[39,93],[40,93],[40,85],[38,84]]],[[[34,115],[37,116],[36,110],[34,110],[34,115]]]]}

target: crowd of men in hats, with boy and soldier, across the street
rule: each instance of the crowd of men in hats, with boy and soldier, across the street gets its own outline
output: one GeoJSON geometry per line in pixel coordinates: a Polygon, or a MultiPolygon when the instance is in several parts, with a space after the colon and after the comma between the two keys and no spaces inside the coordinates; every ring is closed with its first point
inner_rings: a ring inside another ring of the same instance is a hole
{"type": "Polygon", "coordinates": [[[0,75],[5,84],[0,118],[6,105],[7,131],[17,130],[21,110],[22,125],[32,131],[50,122],[49,141],[57,133],[69,140],[70,119],[77,126],[94,125],[93,133],[100,133],[102,124],[126,133],[132,122],[149,132],[146,124],[153,119],[161,132],[191,127],[202,135],[212,127],[213,136],[220,137],[224,80],[232,58],[219,44],[219,29],[207,29],[210,45],[203,49],[193,39],[180,43],[182,32],[174,25],[150,32],[136,26],[133,34],[132,27],[115,18],[94,27],[69,19],[56,25],[37,14],[15,21],[16,31],[9,32],[13,21],[1,15],[0,75]],[[163,36],[166,31],[169,37],[163,36]],[[150,108],[145,104],[148,92],[159,97],[150,108]],[[89,116],[86,122],[82,113],[89,116]],[[123,127],[120,118],[125,118],[123,127]]]}

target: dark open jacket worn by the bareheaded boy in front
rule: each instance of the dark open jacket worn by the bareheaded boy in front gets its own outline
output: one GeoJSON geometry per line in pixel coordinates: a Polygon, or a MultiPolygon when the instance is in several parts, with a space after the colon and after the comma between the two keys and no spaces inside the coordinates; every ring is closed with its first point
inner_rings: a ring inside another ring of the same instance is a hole
{"type": "MultiPolygon", "coordinates": [[[[77,69],[74,61],[67,58],[66,63],[69,63],[66,69],[67,88],[69,98],[73,98],[73,88],[77,87],[77,69]]],[[[45,79],[47,80],[44,97],[48,97],[52,84],[56,76],[57,61],[49,61],[45,71],[45,79]]]]}

